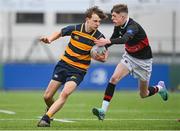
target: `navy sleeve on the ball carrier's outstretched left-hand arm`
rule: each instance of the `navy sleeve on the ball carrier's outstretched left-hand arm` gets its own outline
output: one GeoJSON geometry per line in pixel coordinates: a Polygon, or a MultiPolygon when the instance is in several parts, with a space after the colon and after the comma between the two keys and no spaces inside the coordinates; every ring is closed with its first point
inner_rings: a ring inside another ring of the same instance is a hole
{"type": "Polygon", "coordinates": [[[71,33],[76,30],[76,25],[70,25],[61,29],[62,36],[70,36],[71,33]]]}

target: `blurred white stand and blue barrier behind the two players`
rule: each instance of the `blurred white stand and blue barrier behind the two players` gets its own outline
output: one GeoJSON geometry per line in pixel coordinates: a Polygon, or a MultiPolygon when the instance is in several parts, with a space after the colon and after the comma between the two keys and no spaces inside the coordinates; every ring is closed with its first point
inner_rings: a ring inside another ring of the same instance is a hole
{"type": "MultiPolygon", "coordinates": [[[[164,80],[170,91],[180,90],[179,0],[0,0],[0,90],[45,89],[69,38],[51,45],[39,38],[84,22],[84,12],[95,5],[109,15],[99,30],[110,38],[110,10],[118,3],[128,5],[130,17],[149,37],[154,56],[150,84],[164,80]]],[[[104,90],[123,52],[123,45],[112,46],[106,63],[93,61],[79,89],[104,90]]],[[[117,89],[137,90],[137,80],[127,76],[117,89]]]]}

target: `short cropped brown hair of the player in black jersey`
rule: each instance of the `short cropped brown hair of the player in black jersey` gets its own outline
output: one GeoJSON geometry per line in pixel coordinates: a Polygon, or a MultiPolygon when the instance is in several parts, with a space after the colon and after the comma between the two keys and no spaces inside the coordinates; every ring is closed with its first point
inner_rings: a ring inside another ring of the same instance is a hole
{"type": "Polygon", "coordinates": [[[114,5],[113,8],[111,9],[111,13],[128,13],[128,7],[126,4],[117,4],[114,5]]]}

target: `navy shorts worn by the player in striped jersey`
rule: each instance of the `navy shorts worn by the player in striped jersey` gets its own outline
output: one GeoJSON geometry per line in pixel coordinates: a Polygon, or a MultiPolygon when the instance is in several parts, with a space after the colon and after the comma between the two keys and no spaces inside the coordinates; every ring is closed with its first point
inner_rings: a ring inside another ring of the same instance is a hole
{"type": "Polygon", "coordinates": [[[74,81],[78,86],[84,79],[85,74],[85,71],[75,68],[60,60],[54,68],[52,79],[62,82],[62,84],[67,81],[74,81]]]}

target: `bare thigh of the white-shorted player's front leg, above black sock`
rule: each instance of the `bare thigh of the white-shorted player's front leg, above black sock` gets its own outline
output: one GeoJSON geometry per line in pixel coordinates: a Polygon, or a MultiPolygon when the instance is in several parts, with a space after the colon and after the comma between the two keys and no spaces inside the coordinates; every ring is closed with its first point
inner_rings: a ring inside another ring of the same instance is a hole
{"type": "Polygon", "coordinates": [[[129,74],[129,70],[128,68],[122,64],[122,63],[119,63],[117,66],[116,66],[116,69],[114,70],[114,73],[112,75],[112,78],[116,78],[116,79],[122,79],[124,76],[126,76],[127,74],[129,74]]]}

